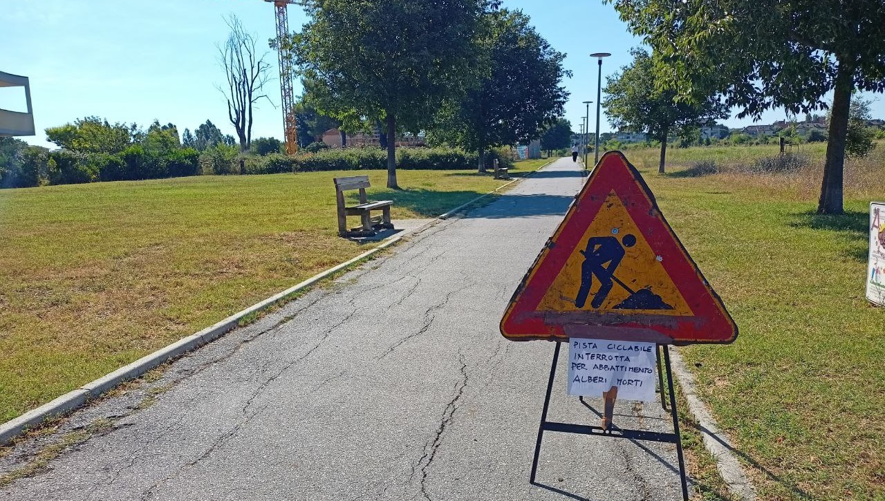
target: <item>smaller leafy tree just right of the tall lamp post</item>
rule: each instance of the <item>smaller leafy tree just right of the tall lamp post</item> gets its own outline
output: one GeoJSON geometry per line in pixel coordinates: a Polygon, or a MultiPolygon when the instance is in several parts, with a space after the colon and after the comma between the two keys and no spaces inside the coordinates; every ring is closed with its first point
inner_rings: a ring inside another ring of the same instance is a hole
{"type": "Polygon", "coordinates": [[[675,90],[656,85],[658,76],[649,53],[633,49],[630,54],[633,62],[606,78],[603,105],[612,127],[644,132],[660,142],[658,173],[664,173],[667,137],[681,135],[681,144],[692,143],[699,135],[694,134],[696,128],[725,117],[725,108],[714,96],[694,104],[677,102],[675,90]],[[693,129],[691,135],[687,134],[689,128],[693,129]]]}

